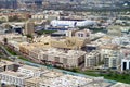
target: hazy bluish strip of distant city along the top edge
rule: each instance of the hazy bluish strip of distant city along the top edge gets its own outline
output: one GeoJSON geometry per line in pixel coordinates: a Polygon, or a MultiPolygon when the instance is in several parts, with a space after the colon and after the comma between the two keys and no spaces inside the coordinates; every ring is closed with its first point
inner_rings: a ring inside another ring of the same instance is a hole
{"type": "Polygon", "coordinates": [[[130,8],[129,0],[105,1],[105,0],[0,0],[0,9],[63,9],[63,10],[103,10],[103,9],[126,9],[130,8]],[[2,4],[3,3],[3,4],[2,4]]]}

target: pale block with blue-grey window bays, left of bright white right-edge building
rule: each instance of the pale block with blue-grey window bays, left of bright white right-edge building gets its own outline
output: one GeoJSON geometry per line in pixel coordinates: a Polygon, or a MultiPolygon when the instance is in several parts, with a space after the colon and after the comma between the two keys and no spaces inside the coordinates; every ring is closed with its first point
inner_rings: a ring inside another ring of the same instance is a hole
{"type": "Polygon", "coordinates": [[[104,69],[119,69],[122,59],[120,48],[117,45],[101,46],[101,59],[104,69]]]}

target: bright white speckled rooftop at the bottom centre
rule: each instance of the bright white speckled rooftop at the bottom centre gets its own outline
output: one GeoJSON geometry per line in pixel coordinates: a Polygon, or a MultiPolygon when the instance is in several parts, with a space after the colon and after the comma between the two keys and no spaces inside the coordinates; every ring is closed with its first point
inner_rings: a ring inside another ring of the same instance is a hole
{"type": "Polygon", "coordinates": [[[49,78],[42,80],[41,84],[50,87],[81,87],[91,82],[92,79],[90,78],[78,77],[73,75],[63,75],[56,78],[49,78]]]}

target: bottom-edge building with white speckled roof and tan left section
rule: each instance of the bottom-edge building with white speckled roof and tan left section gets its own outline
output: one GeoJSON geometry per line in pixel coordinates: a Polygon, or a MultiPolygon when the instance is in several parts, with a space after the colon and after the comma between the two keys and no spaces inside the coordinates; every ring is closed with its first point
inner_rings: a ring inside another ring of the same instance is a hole
{"type": "Polygon", "coordinates": [[[56,77],[39,77],[26,80],[25,87],[80,87],[92,83],[91,78],[73,75],[58,75],[56,77]]]}

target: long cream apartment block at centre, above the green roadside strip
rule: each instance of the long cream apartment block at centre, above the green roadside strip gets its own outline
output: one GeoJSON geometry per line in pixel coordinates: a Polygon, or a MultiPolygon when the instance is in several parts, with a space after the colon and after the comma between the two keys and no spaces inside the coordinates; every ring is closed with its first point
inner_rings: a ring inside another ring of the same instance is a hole
{"type": "Polygon", "coordinates": [[[39,60],[44,63],[61,66],[61,67],[79,67],[84,64],[84,51],[78,50],[56,50],[49,49],[47,51],[39,52],[39,60]]]}

